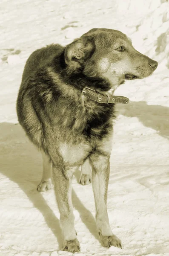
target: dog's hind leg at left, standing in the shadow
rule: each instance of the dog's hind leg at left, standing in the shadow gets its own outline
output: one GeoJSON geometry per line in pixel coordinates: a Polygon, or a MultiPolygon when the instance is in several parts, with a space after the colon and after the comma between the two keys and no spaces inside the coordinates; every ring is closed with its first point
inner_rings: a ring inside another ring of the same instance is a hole
{"type": "Polygon", "coordinates": [[[51,163],[49,157],[42,151],[42,161],[43,161],[43,175],[40,184],[37,186],[37,190],[40,192],[46,191],[51,188],[51,163]]]}

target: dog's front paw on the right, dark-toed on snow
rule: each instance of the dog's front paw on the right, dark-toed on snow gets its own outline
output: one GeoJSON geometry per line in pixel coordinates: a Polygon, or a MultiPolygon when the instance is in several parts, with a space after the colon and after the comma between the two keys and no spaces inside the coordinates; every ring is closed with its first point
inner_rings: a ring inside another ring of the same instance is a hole
{"type": "Polygon", "coordinates": [[[117,236],[102,236],[101,233],[99,233],[101,243],[104,247],[111,247],[112,245],[115,247],[119,247],[122,249],[121,241],[118,239],[117,236]]]}

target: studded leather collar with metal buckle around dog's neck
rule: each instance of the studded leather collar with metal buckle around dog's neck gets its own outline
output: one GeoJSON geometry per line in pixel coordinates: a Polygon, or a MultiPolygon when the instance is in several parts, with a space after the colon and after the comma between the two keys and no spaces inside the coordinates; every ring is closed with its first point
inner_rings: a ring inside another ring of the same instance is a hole
{"type": "Polygon", "coordinates": [[[84,96],[86,96],[89,99],[94,100],[97,103],[106,103],[106,104],[115,104],[115,103],[123,103],[123,104],[127,104],[129,103],[129,99],[124,97],[124,96],[109,96],[108,93],[105,93],[105,95],[90,89],[88,87],[85,87],[82,90],[82,93],[84,96]]]}

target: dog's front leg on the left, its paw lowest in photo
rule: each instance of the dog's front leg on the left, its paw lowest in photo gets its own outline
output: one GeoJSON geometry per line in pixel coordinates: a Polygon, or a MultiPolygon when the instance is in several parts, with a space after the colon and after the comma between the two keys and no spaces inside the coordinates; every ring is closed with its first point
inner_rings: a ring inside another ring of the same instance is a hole
{"type": "Polygon", "coordinates": [[[54,189],[60,211],[60,224],[63,232],[63,250],[79,252],[80,244],[74,229],[74,214],[72,206],[72,170],[64,166],[52,165],[54,189]]]}

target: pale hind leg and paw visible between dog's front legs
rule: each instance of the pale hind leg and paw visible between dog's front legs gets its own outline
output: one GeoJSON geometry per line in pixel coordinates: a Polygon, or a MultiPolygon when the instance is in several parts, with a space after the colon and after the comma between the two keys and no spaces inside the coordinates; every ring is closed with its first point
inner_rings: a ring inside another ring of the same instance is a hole
{"type": "Polygon", "coordinates": [[[81,166],[81,175],[79,183],[82,185],[90,184],[92,180],[92,171],[91,166],[89,163],[89,158],[86,159],[86,161],[81,166]]]}

